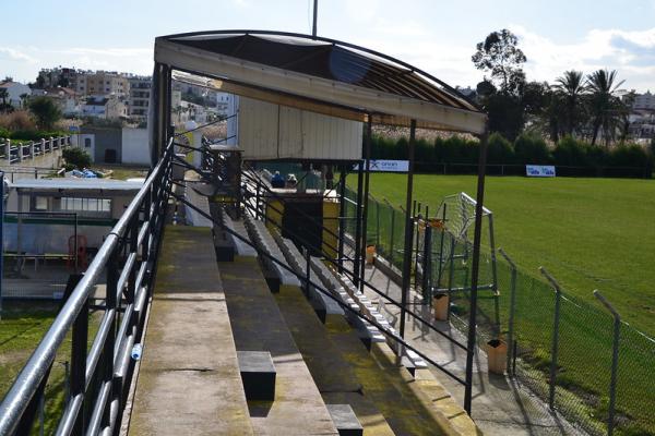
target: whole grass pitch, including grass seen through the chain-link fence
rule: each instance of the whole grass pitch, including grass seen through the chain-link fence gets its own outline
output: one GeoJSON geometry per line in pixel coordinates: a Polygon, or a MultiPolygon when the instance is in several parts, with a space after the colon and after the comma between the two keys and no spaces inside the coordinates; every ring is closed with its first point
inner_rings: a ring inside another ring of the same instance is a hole
{"type": "MultiPolygon", "coordinates": [[[[353,178],[356,179],[356,178],[353,178]]],[[[371,193],[404,205],[406,177],[373,174],[371,193]]],[[[353,183],[353,180],[350,180],[353,183]]],[[[445,195],[476,192],[471,175],[417,175],[415,197],[436,213],[445,195]]],[[[633,327],[655,335],[655,181],[619,179],[487,178],[486,206],[493,211],[497,246],[520,267],[516,281],[515,337],[523,364],[521,379],[548,391],[553,292],[538,272],[545,266],[571,299],[561,303],[558,360],[558,409],[586,429],[605,433],[611,362],[611,317],[592,291],[599,289],[633,327]],[[525,365],[527,363],[527,365],[525,365]]],[[[370,221],[369,221],[370,222],[370,221]]],[[[372,231],[374,233],[374,229],[372,231]]],[[[380,232],[388,232],[382,226],[380,232]]],[[[383,242],[384,240],[382,240],[383,242]]],[[[486,242],[485,240],[483,242],[486,242]]],[[[454,284],[468,283],[468,263],[460,265],[454,284]]],[[[507,334],[510,270],[499,264],[498,313],[507,334]]],[[[491,281],[483,262],[480,283],[491,281]]],[[[453,295],[464,317],[468,302],[453,295]]],[[[496,300],[480,294],[478,325],[495,319],[496,300]]],[[[464,328],[466,328],[464,326],[464,328]]],[[[621,435],[655,435],[653,343],[623,328],[619,350],[617,410],[621,435]]],[[[547,397],[547,396],[546,396],[547,397]]]]}

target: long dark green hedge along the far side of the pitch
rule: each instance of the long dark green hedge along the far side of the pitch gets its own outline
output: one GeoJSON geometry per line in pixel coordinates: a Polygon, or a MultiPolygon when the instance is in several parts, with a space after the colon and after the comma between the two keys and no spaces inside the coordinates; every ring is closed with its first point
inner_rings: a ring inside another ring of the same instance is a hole
{"type": "MultiPolygon", "coordinates": [[[[373,159],[407,159],[407,138],[398,141],[373,136],[373,159]]],[[[416,170],[420,172],[472,173],[478,160],[478,141],[463,136],[418,140],[415,146],[416,170]]],[[[489,136],[487,162],[508,166],[503,174],[525,172],[524,166],[555,165],[561,175],[651,177],[655,146],[623,144],[611,148],[592,146],[584,141],[563,137],[549,146],[541,137],[520,135],[513,143],[499,133],[489,136]]],[[[489,173],[501,173],[489,171],[489,173]]]]}

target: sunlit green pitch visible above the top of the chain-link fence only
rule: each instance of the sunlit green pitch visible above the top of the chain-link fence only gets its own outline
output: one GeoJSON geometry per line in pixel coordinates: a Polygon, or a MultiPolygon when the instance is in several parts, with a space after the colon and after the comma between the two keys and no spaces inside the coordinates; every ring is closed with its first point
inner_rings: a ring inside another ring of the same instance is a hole
{"type": "MultiPolygon", "coordinates": [[[[355,178],[352,178],[355,179],[355,178]]],[[[594,302],[600,290],[633,327],[655,336],[655,180],[487,178],[496,243],[526,272],[546,267],[564,290],[594,302]]],[[[353,181],[350,181],[353,183],[353,181]]],[[[371,175],[371,193],[405,202],[406,175],[371,175]]],[[[415,199],[475,197],[473,175],[419,174],[415,199]]]]}

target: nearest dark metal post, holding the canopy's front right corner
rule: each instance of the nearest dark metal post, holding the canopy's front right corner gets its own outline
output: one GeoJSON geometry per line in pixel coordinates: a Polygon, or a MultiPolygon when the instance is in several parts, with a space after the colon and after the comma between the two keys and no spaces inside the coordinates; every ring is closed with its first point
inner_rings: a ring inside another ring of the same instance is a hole
{"type": "Polygon", "coordinates": [[[487,145],[489,131],[480,135],[480,149],[478,157],[478,185],[475,204],[475,230],[473,235],[473,262],[471,266],[471,307],[468,314],[468,340],[466,343],[466,386],[464,389],[464,410],[471,415],[473,398],[473,360],[476,349],[477,328],[477,287],[480,266],[480,240],[483,233],[483,203],[485,201],[485,170],[487,167],[487,145]]]}

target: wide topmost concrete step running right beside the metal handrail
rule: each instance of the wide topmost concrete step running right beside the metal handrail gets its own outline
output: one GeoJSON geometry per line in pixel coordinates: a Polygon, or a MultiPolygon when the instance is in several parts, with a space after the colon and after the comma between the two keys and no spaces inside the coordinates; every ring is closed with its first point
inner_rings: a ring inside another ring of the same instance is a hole
{"type": "Polygon", "coordinates": [[[210,229],[163,238],[128,433],[252,435],[210,229]]]}

